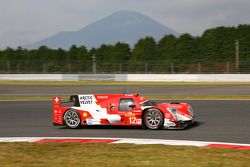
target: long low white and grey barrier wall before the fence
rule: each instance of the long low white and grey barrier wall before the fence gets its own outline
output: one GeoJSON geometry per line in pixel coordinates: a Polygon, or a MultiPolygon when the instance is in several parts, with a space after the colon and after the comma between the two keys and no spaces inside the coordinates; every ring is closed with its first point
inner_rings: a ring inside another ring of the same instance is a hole
{"type": "Polygon", "coordinates": [[[0,81],[250,82],[250,74],[0,74],[0,81]]]}

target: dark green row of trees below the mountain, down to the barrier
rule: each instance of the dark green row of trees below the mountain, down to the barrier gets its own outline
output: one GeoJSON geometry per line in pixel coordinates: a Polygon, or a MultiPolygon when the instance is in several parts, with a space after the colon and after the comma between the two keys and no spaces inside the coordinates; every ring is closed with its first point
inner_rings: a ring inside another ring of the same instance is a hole
{"type": "Polygon", "coordinates": [[[250,25],[217,27],[201,36],[188,33],[139,39],[133,48],[126,43],[103,44],[68,50],[6,48],[0,50],[0,73],[224,73],[250,72],[250,25]],[[235,66],[239,42],[239,68],[235,66]]]}

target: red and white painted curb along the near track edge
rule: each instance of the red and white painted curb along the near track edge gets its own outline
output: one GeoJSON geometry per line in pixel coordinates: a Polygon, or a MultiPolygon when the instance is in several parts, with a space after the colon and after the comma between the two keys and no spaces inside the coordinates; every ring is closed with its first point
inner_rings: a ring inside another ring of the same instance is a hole
{"type": "Polygon", "coordinates": [[[163,145],[173,145],[173,146],[196,146],[196,147],[250,150],[250,144],[207,142],[207,141],[189,141],[189,140],[137,139],[137,138],[1,137],[0,142],[163,144],[163,145]]]}

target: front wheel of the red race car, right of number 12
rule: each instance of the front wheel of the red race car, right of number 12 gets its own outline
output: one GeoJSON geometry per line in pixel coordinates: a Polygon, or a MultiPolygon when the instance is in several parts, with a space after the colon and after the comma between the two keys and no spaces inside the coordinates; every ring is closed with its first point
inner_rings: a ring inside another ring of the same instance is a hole
{"type": "Polygon", "coordinates": [[[152,108],[144,112],[143,124],[146,128],[152,130],[161,129],[163,123],[164,123],[164,117],[160,110],[152,108]]]}

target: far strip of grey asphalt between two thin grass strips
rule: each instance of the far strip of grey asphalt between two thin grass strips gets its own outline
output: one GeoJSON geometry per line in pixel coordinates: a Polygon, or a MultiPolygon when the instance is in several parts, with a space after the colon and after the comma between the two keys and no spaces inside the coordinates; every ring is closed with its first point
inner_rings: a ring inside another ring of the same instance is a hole
{"type": "Polygon", "coordinates": [[[62,96],[93,93],[140,93],[167,96],[249,96],[250,84],[201,85],[0,85],[0,97],[62,96]]]}

